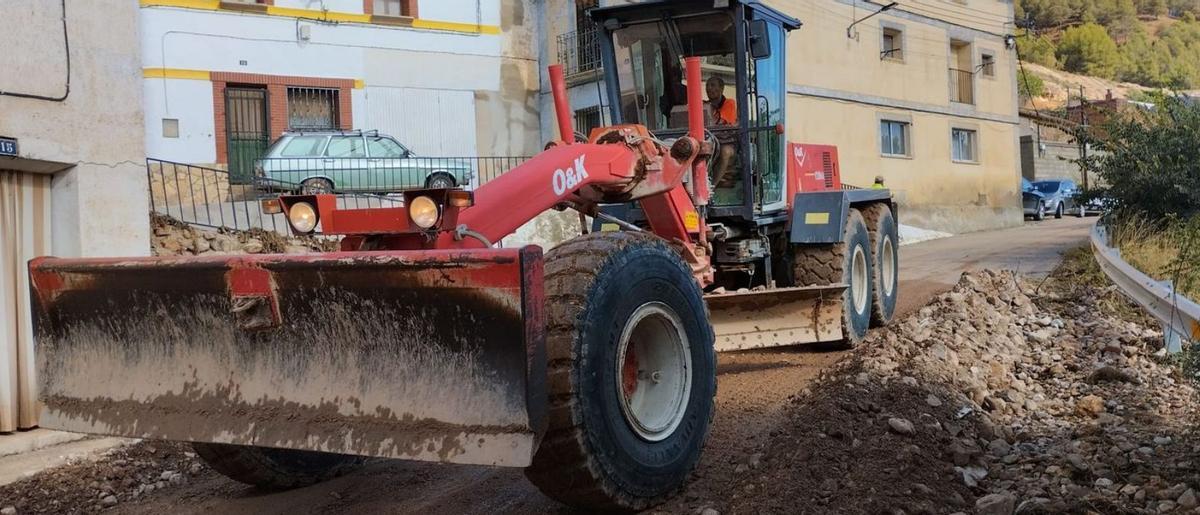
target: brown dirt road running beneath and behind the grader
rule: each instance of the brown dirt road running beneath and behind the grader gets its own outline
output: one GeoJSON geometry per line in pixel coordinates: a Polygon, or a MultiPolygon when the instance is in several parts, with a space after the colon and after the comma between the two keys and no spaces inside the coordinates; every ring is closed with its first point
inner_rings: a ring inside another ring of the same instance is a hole
{"type": "MultiPolygon", "coordinates": [[[[1060,252],[1081,245],[1096,218],[1048,220],[1024,227],[926,241],[901,250],[901,312],[949,289],[968,269],[1049,273],[1060,252]]],[[[745,454],[782,421],[788,396],[846,354],[811,349],[748,352],[720,357],[718,414],[689,492],[721,491],[745,454]]],[[[684,492],[680,503],[686,502],[684,492]]],[[[667,509],[679,509],[668,505],[667,509]]],[[[559,513],[518,469],[378,462],[307,489],[263,493],[216,473],[118,507],[134,514],[301,513],[559,513]]]]}

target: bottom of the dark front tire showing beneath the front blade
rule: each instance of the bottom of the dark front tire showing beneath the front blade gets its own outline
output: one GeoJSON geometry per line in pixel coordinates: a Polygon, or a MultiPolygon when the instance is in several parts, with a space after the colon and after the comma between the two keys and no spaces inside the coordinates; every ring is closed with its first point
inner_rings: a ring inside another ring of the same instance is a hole
{"type": "Polygon", "coordinates": [[[366,462],[362,456],[344,454],[220,443],[193,443],[192,449],[229,479],[265,490],[308,486],[353,472],[366,462]]]}

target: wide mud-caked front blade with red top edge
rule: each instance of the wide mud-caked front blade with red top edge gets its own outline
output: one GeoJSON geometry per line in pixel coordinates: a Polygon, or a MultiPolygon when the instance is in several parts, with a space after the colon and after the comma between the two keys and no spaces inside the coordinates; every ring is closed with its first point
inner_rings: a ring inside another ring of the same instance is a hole
{"type": "Polygon", "coordinates": [[[527,466],[541,250],[30,263],[42,425],[527,466]]]}

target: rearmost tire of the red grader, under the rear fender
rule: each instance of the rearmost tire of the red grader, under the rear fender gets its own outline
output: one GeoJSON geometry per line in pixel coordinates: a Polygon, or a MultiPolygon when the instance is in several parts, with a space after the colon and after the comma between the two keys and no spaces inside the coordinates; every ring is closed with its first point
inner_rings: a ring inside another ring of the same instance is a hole
{"type": "Polygon", "coordinates": [[[900,281],[900,235],[892,206],[877,202],[863,208],[863,222],[871,238],[871,327],[892,322],[896,312],[900,281]]]}

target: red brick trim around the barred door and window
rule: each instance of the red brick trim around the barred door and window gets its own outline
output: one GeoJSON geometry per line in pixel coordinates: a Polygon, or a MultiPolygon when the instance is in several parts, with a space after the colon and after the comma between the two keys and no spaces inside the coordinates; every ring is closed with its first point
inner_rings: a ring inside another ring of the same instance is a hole
{"type": "Polygon", "coordinates": [[[226,140],[226,104],[224,90],[229,85],[265,85],[266,115],[270,124],[271,139],[276,139],[288,128],[288,86],[331,88],[337,89],[337,124],[343,130],[354,128],[354,113],[350,95],[354,79],[332,79],[320,77],[268,76],[262,73],[212,72],[212,128],[216,138],[217,163],[229,162],[228,142],[226,140]]]}

